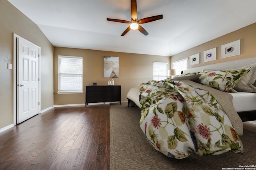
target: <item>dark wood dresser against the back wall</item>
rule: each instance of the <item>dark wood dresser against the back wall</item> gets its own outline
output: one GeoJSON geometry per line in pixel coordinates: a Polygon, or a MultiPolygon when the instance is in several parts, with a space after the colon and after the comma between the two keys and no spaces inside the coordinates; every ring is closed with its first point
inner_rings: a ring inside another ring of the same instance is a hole
{"type": "Polygon", "coordinates": [[[121,86],[85,86],[85,107],[88,103],[120,102],[121,86]]]}

